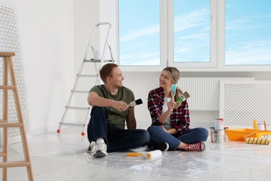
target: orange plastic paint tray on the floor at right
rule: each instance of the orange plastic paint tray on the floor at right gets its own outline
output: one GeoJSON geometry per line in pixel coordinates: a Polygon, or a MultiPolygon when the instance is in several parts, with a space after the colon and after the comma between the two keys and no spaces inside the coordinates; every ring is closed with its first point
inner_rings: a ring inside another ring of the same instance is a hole
{"type": "Polygon", "coordinates": [[[271,131],[259,130],[259,129],[227,129],[226,134],[230,140],[245,140],[247,138],[261,138],[264,135],[270,135],[271,131]]]}

